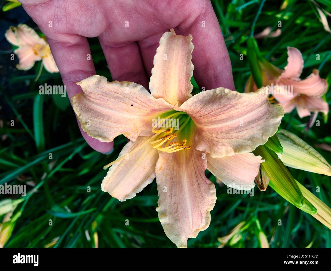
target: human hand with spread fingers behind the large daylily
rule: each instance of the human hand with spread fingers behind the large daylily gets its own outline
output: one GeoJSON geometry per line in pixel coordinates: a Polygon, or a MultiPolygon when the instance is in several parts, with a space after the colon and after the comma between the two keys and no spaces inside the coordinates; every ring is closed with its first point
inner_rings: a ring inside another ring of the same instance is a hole
{"type": "MultiPolygon", "coordinates": [[[[95,75],[86,37],[99,37],[113,80],[148,89],[153,59],[164,32],[193,35],[194,78],[206,90],[235,90],[231,62],[213,7],[208,0],[20,0],[47,37],[69,98],[80,81],[95,75]],[[50,25],[52,25],[50,27],[50,25]]],[[[80,126],[80,125],[79,125],[80,126]]],[[[100,142],[81,128],[96,151],[109,153],[113,142],[100,142]]]]}

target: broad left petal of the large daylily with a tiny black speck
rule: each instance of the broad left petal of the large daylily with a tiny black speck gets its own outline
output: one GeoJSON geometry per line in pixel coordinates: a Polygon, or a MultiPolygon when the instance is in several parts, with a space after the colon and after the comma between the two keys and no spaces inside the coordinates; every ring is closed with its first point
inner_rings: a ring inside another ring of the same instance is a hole
{"type": "Polygon", "coordinates": [[[93,75],[77,83],[83,92],[72,97],[82,129],[101,142],[123,134],[135,141],[152,130],[152,119],[173,106],[155,99],[143,86],[132,82],[107,82],[93,75]]]}

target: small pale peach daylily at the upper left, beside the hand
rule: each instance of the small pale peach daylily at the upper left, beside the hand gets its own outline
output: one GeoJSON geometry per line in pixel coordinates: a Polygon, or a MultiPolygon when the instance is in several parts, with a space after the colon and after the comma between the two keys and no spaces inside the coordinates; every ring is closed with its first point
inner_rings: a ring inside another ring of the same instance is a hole
{"type": "Polygon", "coordinates": [[[23,23],[17,27],[11,26],[5,37],[11,44],[18,46],[14,51],[19,58],[16,66],[18,69],[29,70],[36,61],[42,60],[48,72],[59,72],[46,39],[39,37],[31,27],[23,23]]]}

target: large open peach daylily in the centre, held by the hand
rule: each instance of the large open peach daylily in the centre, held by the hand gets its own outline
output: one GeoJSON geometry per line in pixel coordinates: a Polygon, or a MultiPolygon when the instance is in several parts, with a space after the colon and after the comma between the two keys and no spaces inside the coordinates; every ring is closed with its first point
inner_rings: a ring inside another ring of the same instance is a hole
{"type": "Polygon", "coordinates": [[[156,177],[160,222],[178,247],[205,230],[216,202],[206,168],[226,185],[251,189],[259,172],[257,146],[278,130],[283,109],[270,105],[264,89],[239,93],[224,88],[192,97],[192,35],[166,32],[154,57],[149,93],[133,82],[107,82],[94,75],[77,84],[73,109],[82,129],[111,142],[130,141],[103,179],[101,188],[120,201],[133,198],[156,177]],[[178,121],[178,130],[153,119],[178,121]],[[157,127],[166,126],[166,127],[157,127]]]}

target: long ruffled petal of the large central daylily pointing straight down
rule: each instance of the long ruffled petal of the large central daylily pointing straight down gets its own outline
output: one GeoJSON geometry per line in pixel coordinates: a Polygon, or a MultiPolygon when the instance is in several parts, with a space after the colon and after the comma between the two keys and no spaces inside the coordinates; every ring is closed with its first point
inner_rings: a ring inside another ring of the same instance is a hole
{"type": "Polygon", "coordinates": [[[216,190],[205,176],[207,159],[203,155],[194,145],[190,150],[159,153],[156,210],[166,236],[177,247],[187,247],[187,239],[195,238],[210,224],[216,190]]]}

